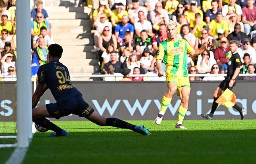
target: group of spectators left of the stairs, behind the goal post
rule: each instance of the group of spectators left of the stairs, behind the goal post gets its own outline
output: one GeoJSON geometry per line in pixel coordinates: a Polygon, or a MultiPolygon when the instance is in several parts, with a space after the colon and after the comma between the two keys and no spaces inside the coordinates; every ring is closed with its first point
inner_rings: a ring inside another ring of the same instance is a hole
{"type": "MultiPolygon", "coordinates": [[[[0,75],[1,77],[15,77],[16,75],[16,0],[2,0],[0,23],[0,75]]],[[[32,75],[37,73],[38,67],[47,60],[48,46],[53,43],[49,24],[49,16],[44,9],[44,2],[31,0],[31,63],[32,75]]],[[[15,81],[7,78],[4,81],[15,81]]]]}

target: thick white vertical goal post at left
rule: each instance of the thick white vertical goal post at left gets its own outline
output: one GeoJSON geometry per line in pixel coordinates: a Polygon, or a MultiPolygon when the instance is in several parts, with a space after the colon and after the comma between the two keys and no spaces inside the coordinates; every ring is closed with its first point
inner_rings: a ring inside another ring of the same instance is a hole
{"type": "Polygon", "coordinates": [[[29,147],[32,138],[30,0],[16,1],[17,35],[17,146],[29,147]]]}

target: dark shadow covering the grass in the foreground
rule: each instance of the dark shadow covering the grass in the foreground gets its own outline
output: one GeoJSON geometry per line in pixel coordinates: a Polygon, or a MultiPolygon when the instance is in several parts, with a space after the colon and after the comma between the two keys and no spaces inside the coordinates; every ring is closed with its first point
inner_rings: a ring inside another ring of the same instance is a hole
{"type": "Polygon", "coordinates": [[[38,163],[254,163],[256,130],[36,133],[24,164],[38,163]]]}

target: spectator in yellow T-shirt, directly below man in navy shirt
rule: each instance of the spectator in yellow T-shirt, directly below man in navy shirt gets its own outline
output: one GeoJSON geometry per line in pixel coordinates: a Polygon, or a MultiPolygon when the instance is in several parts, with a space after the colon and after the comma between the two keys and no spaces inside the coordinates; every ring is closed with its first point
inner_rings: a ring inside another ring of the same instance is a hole
{"type": "Polygon", "coordinates": [[[219,29],[223,29],[225,36],[229,35],[229,25],[226,20],[222,19],[222,12],[219,11],[217,13],[216,19],[212,20],[209,26],[208,34],[212,36],[214,39],[218,38],[217,31],[219,29]]]}

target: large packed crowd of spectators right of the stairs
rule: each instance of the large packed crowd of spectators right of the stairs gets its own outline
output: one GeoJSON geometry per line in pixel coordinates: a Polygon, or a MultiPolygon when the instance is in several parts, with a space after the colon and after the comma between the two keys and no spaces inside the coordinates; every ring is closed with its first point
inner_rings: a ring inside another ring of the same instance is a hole
{"type": "MultiPolygon", "coordinates": [[[[187,55],[189,74],[225,74],[230,55],[229,42],[237,40],[241,73],[255,73],[255,0],[90,0],[95,48],[102,74],[123,74],[105,81],[165,81],[157,75],[159,43],[168,38],[166,24],[178,22],[178,38],[193,48],[207,41],[214,46],[202,55],[187,55]]],[[[165,64],[162,63],[165,71],[165,64]]],[[[191,81],[221,81],[223,76],[190,77],[191,81]]],[[[244,77],[241,80],[255,80],[244,77]]]]}

